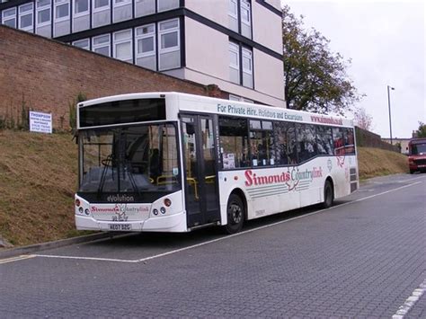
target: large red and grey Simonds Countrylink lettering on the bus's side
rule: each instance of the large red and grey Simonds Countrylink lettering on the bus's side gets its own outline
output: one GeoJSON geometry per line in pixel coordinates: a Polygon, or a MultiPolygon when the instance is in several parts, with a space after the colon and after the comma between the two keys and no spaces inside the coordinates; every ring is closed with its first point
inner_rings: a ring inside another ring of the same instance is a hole
{"type": "Polygon", "coordinates": [[[298,171],[293,169],[291,172],[282,172],[270,175],[259,175],[253,173],[252,170],[247,170],[244,172],[245,176],[245,186],[250,187],[253,185],[265,185],[265,184],[274,184],[282,182],[296,182],[307,180],[312,182],[315,178],[323,177],[323,168],[314,167],[312,170],[306,169],[305,171],[298,171]]]}

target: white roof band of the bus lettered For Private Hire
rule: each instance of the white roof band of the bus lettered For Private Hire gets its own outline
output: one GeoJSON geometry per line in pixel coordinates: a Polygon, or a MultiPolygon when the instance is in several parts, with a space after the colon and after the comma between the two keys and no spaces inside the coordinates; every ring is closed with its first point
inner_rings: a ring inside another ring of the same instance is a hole
{"type": "Polygon", "coordinates": [[[199,111],[213,114],[222,114],[245,118],[258,118],[260,120],[288,120],[295,122],[346,126],[352,127],[353,121],[340,116],[324,115],[307,111],[296,111],[263,104],[253,104],[251,102],[238,102],[225,99],[218,99],[203,95],[176,92],[155,92],[155,93],[128,93],[105,96],[98,99],[88,100],[78,103],[78,108],[86,106],[114,102],[120,100],[135,99],[176,99],[179,103],[180,111],[199,111]],[[184,103],[183,103],[184,102],[184,103]],[[200,107],[200,102],[202,107],[200,107]]]}

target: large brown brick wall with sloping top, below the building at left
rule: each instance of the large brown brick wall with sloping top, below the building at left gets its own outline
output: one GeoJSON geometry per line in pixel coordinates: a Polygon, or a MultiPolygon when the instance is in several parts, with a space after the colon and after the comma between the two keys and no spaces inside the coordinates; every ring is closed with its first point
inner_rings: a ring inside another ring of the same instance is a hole
{"type": "Polygon", "coordinates": [[[52,112],[53,127],[65,129],[78,93],[93,99],[158,91],[211,94],[204,85],[0,25],[0,115],[18,117],[23,101],[52,112]]]}

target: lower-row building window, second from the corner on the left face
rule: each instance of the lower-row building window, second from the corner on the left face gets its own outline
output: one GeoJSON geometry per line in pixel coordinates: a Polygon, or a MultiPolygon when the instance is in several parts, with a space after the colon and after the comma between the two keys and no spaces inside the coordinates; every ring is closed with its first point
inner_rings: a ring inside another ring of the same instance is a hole
{"type": "Polygon", "coordinates": [[[136,28],[136,64],[156,70],[155,24],[136,28]]]}

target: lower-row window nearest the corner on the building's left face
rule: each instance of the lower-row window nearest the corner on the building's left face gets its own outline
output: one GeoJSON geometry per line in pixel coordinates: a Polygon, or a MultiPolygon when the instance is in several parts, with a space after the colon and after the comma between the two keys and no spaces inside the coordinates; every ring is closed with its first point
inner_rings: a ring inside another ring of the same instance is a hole
{"type": "Polygon", "coordinates": [[[159,70],[181,66],[179,20],[158,23],[159,70]]]}

